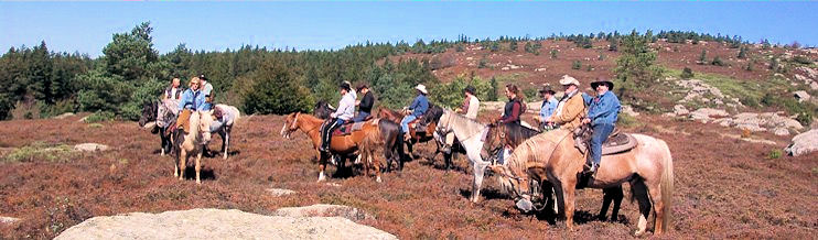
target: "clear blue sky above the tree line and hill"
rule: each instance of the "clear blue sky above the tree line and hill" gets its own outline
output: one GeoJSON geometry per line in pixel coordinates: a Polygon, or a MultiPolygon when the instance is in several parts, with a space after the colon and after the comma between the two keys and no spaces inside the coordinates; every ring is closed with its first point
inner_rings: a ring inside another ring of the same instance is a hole
{"type": "Polygon", "coordinates": [[[818,45],[818,2],[0,2],[0,48],[101,54],[150,21],[160,53],[185,43],[340,48],[365,42],[692,30],[818,45]]]}

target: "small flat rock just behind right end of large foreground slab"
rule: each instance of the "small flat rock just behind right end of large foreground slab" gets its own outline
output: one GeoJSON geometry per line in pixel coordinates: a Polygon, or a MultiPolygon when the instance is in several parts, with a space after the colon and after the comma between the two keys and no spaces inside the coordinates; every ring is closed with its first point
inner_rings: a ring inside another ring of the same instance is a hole
{"type": "Polygon", "coordinates": [[[342,217],[353,221],[375,219],[375,217],[354,207],[327,204],[279,208],[273,215],[282,217],[342,217]]]}

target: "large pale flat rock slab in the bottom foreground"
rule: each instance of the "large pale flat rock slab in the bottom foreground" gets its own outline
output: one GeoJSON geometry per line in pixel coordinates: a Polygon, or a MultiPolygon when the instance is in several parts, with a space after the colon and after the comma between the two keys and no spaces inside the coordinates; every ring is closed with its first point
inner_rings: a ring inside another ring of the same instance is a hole
{"type": "Polygon", "coordinates": [[[340,217],[280,217],[236,209],[191,209],[95,217],[55,239],[397,239],[340,217]]]}

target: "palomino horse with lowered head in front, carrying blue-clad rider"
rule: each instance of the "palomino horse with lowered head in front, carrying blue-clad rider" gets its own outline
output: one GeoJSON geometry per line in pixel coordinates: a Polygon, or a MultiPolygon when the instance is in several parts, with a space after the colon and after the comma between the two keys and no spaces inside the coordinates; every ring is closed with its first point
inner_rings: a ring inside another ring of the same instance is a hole
{"type": "MultiPolygon", "coordinates": [[[[560,208],[566,216],[566,225],[573,229],[574,189],[582,171],[585,156],[574,148],[571,132],[555,130],[526,140],[508,157],[506,165],[492,166],[512,186],[518,201],[527,201],[528,181],[548,179],[555,183],[560,208]]],[[[639,203],[639,222],[636,234],[645,233],[647,217],[653,203],[655,233],[661,234],[670,223],[670,204],[674,192],[674,166],[670,150],[665,141],[643,134],[633,134],[637,141],[635,149],[602,157],[602,164],[586,187],[607,188],[631,183],[634,197],[639,203]]],[[[525,205],[525,204],[524,204],[525,205]]],[[[530,201],[528,204],[530,206],[530,201]]]]}

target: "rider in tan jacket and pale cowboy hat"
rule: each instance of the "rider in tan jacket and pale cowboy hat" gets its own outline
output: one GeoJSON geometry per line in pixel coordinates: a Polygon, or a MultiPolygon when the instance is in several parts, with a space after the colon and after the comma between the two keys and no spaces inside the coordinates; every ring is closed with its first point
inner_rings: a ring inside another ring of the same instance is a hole
{"type": "Polygon", "coordinates": [[[585,101],[579,94],[580,81],[568,75],[563,75],[560,85],[566,89],[562,99],[557,103],[557,110],[546,118],[548,124],[560,126],[560,129],[573,131],[582,124],[585,117],[585,101]]]}

